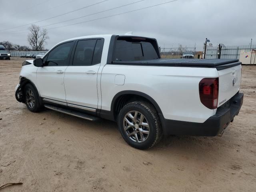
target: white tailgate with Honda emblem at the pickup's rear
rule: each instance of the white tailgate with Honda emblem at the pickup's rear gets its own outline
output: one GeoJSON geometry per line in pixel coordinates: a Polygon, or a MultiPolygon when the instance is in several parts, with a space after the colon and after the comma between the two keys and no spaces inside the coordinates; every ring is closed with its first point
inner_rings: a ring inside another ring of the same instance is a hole
{"type": "Polygon", "coordinates": [[[232,98],[240,89],[242,66],[237,65],[223,70],[219,74],[218,107],[232,98]]]}

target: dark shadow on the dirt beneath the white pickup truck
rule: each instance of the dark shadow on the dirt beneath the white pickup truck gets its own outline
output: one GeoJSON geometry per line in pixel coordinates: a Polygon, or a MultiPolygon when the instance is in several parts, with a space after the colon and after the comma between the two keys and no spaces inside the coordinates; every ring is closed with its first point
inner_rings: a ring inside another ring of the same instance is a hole
{"type": "MultiPolygon", "coordinates": [[[[102,139],[109,141],[109,148],[118,146],[126,148],[131,152],[137,150],[126,144],[118,130],[116,122],[104,119],[92,122],[52,110],[45,110],[42,113],[52,116],[56,121],[61,120],[64,122],[64,124],[70,127],[68,128],[70,129],[69,132],[77,134],[76,131],[84,130],[86,131],[84,137],[92,134],[97,135],[96,140],[99,142],[102,139]]],[[[210,152],[220,155],[230,148],[230,138],[229,141],[227,141],[224,137],[226,137],[225,133],[222,137],[165,136],[158,144],[148,150],[144,150],[144,152],[148,154],[158,154],[160,156],[172,156],[173,154],[204,156],[210,152]]]]}

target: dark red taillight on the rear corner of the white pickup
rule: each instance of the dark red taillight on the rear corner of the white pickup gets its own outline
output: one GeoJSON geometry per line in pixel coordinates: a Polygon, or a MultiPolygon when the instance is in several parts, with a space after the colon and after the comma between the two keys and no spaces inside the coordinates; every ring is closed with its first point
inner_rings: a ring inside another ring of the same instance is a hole
{"type": "Polygon", "coordinates": [[[219,78],[203,78],[199,82],[199,96],[202,104],[209,109],[218,106],[219,78]]]}

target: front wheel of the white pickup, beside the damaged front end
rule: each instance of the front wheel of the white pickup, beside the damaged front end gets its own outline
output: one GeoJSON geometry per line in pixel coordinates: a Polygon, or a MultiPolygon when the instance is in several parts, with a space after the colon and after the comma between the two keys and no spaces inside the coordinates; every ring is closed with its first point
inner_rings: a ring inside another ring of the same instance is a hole
{"type": "Polygon", "coordinates": [[[24,102],[27,108],[32,112],[39,112],[40,110],[42,110],[42,105],[40,105],[40,102],[39,102],[40,98],[34,86],[28,83],[24,86],[23,90],[24,90],[23,92],[24,102]],[[30,99],[28,99],[29,96],[30,96],[30,99]],[[31,100],[34,100],[34,102],[31,102],[31,100]]]}

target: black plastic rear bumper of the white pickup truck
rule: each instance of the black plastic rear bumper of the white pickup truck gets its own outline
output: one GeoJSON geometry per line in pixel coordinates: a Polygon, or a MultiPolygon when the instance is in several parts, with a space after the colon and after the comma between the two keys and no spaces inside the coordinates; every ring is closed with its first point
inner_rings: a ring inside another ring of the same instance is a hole
{"type": "Polygon", "coordinates": [[[204,123],[167,120],[160,115],[162,128],[166,135],[216,136],[238,115],[243,104],[244,94],[237,93],[230,99],[229,106],[220,106],[216,114],[204,123]]]}

